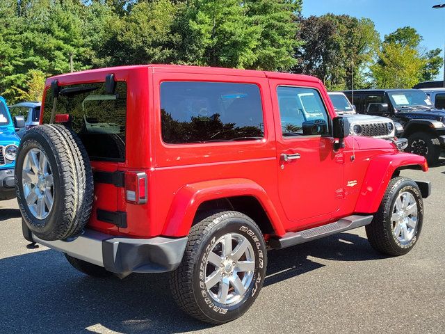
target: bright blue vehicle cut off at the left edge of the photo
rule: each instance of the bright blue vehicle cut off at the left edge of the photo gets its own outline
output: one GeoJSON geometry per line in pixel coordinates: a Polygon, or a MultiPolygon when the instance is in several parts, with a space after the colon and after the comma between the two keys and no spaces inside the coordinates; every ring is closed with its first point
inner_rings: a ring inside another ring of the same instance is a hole
{"type": "Polygon", "coordinates": [[[6,101],[0,96],[0,200],[15,198],[14,168],[19,142],[6,101]]]}

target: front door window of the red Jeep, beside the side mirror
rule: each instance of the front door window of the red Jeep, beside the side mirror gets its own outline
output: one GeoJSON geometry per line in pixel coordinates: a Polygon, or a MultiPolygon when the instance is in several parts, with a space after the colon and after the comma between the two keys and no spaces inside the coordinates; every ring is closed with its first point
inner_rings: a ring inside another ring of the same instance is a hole
{"type": "Polygon", "coordinates": [[[317,90],[280,86],[277,97],[284,137],[329,133],[328,114],[317,90]]]}

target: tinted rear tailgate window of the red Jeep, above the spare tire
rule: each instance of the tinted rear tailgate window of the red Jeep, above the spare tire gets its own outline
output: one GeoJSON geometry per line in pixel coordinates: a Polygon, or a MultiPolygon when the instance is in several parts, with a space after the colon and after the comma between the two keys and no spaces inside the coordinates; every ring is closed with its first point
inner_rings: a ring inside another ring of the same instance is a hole
{"type": "MultiPolygon", "coordinates": [[[[53,97],[44,101],[43,123],[49,123],[53,97]]],[[[70,115],[71,127],[81,138],[91,160],[125,161],[127,84],[116,83],[115,94],[107,95],[105,84],[60,87],[56,114],[70,115]]]]}

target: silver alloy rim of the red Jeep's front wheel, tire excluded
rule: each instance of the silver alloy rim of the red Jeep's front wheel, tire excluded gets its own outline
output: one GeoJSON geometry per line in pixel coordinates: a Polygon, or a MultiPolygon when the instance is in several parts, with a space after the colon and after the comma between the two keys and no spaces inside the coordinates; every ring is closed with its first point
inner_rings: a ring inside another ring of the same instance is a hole
{"type": "Polygon", "coordinates": [[[417,202],[412,193],[401,193],[391,214],[393,233],[398,241],[407,243],[412,240],[417,227],[417,202]]]}

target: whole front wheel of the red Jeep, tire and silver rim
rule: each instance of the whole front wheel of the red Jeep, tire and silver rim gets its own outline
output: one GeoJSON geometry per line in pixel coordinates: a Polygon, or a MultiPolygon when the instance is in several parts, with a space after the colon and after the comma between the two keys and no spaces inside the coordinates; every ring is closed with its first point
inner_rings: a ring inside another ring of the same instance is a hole
{"type": "Polygon", "coordinates": [[[375,250],[387,255],[408,253],[421,232],[423,200],[416,182],[394,177],[389,182],[382,203],[366,235],[375,250]]]}

